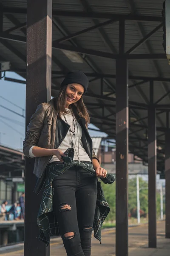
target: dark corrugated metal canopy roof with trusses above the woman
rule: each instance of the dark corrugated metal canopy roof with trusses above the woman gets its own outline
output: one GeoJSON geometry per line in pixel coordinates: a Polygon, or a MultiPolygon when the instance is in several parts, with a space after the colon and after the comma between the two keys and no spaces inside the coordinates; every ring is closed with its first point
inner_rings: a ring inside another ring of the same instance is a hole
{"type": "MultiPolygon", "coordinates": [[[[0,59],[10,61],[11,71],[23,77],[26,77],[26,2],[1,0],[0,59]]],[[[91,123],[109,138],[115,138],[118,20],[125,20],[129,149],[147,162],[147,109],[153,81],[157,169],[161,172],[164,170],[166,115],[170,110],[170,66],[162,46],[162,4],[163,0],[53,0],[52,25],[52,96],[57,94],[69,70],[82,70],[90,81],[84,101],[91,123]]]]}

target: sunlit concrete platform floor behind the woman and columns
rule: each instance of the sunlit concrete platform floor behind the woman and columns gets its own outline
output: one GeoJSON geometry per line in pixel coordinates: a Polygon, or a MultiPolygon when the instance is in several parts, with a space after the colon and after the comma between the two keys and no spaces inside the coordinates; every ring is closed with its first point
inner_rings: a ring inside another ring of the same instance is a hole
{"type": "MultiPolygon", "coordinates": [[[[164,221],[157,223],[157,248],[148,248],[147,229],[147,224],[129,227],[129,256],[169,256],[170,239],[165,239],[164,221]]],[[[66,256],[60,238],[51,239],[50,250],[50,256],[66,256]]],[[[3,256],[23,256],[23,244],[6,247],[6,250],[0,248],[0,254],[3,256]]],[[[102,231],[102,245],[93,237],[91,256],[115,256],[115,229],[102,231]]]]}

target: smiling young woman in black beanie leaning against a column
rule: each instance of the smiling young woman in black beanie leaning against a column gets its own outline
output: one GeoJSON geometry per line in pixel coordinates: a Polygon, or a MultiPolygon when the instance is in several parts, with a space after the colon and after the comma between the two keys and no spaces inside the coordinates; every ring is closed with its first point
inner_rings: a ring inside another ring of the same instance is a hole
{"type": "Polygon", "coordinates": [[[113,183],[97,159],[87,127],[82,96],[88,78],[69,72],[59,96],[37,107],[28,125],[23,152],[35,157],[37,194],[44,186],[37,218],[39,239],[61,235],[68,256],[91,255],[91,233],[101,242],[101,227],[109,212],[98,178],[113,183]]]}

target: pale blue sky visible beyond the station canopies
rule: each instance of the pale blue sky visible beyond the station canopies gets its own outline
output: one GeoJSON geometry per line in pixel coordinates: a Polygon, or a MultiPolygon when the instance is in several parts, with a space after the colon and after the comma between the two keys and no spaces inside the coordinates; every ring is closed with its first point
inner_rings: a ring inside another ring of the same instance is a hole
{"type": "MultiPolygon", "coordinates": [[[[16,73],[6,72],[6,77],[25,80],[16,73]]],[[[0,145],[22,151],[25,137],[26,84],[0,80],[0,145]],[[6,109],[8,108],[8,109],[6,109]]],[[[89,128],[96,128],[89,125],[89,128]]],[[[89,130],[91,136],[107,134],[89,130]]]]}

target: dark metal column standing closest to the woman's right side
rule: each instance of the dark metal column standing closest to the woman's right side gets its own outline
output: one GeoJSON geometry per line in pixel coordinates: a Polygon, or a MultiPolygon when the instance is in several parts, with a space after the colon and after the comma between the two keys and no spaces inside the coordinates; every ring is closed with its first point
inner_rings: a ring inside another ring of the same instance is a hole
{"type": "MultiPolygon", "coordinates": [[[[119,54],[125,21],[119,21],[119,54]]],[[[128,256],[128,64],[116,60],[116,256],[128,256]]]]}

